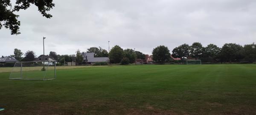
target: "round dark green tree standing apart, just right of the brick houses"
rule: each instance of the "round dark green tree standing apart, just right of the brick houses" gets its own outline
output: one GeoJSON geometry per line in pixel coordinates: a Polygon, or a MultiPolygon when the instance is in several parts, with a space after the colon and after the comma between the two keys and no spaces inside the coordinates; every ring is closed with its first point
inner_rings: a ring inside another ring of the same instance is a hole
{"type": "Polygon", "coordinates": [[[171,57],[170,50],[166,46],[157,46],[153,49],[153,60],[157,63],[165,63],[171,57]]]}

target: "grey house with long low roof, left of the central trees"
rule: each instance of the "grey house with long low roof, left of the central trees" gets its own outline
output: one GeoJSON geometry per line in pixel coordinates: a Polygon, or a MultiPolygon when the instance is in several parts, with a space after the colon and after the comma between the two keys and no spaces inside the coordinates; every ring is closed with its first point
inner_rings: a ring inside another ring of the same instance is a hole
{"type": "Polygon", "coordinates": [[[83,56],[83,61],[88,64],[94,64],[96,62],[108,62],[109,63],[109,58],[108,57],[94,57],[94,53],[86,53],[82,52],[81,55],[83,56]]]}

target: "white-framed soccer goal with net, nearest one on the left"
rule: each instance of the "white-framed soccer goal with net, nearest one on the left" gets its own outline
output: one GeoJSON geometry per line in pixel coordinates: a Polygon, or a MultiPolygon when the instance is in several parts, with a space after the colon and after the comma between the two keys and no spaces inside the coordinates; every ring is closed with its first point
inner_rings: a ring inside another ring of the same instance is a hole
{"type": "Polygon", "coordinates": [[[55,61],[16,62],[9,79],[53,80],[56,78],[55,61]]]}

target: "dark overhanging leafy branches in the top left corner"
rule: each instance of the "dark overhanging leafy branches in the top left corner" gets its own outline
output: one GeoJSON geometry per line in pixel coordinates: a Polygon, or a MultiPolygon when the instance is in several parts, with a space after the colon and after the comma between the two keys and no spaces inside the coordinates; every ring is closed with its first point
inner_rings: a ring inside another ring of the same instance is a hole
{"type": "Polygon", "coordinates": [[[52,17],[51,14],[46,13],[55,6],[55,4],[52,3],[52,0],[16,0],[16,5],[14,7],[12,7],[11,0],[0,0],[0,29],[4,26],[6,29],[11,30],[11,35],[20,34],[20,21],[17,20],[19,15],[14,13],[20,11],[20,9],[28,9],[30,4],[37,6],[38,11],[44,17],[52,17]]]}

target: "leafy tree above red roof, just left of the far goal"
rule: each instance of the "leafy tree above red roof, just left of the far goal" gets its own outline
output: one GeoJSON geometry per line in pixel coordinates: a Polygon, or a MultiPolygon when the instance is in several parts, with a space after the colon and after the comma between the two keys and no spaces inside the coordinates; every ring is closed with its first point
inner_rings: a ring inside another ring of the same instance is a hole
{"type": "Polygon", "coordinates": [[[182,44],[172,50],[172,57],[174,58],[187,58],[189,56],[190,46],[188,44],[182,44]]]}

